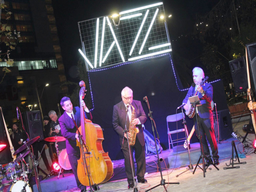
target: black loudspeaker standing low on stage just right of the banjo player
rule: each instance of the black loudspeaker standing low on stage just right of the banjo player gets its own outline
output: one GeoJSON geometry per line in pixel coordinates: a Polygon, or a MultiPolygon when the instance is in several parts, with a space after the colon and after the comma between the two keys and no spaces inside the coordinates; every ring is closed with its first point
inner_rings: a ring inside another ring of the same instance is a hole
{"type": "Polygon", "coordinates": [[[232,137],[233,128],[231,123],[230,112],[228,109],[217,112],[218,123],[216,112],[213,113],[213,124],[216,140],[222,141],[232,137]],[[219,126],[218,126],[219,125],[219,126]]]}

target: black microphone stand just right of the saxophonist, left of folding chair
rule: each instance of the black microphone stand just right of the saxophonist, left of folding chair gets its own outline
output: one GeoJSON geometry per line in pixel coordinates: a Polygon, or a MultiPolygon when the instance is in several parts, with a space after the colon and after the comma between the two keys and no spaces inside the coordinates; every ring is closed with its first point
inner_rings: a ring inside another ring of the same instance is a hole
{"type": "MultiPolygon", "coordinates": [[[[144,99],[143,99],[144,100],[144,99]]],[[[165,179],[163,179],[163,174],[162,174],[162,169],[161,169],[161,165],[160,165],[160,160],[159,160],[159,154],[158,154],[158,150],[157,150],[157,141],[156,141],[156,135],[155,135],[155,130],[156,130],[156,132],[157,132],[157,127],[156,127],[156,124],[155,123],[153,123],[153,121],[154,121],[154,119],[153,119],[153,117],[152,117],[152,111],[150,111],[150,107],[149,107],[149,104],[148,104],[148,98],[147,98],[147,96],[145,96],[145,100],[144,100],[145,102],[146,102],[146,104],[147,104],[147,106],[148,106],[148,111],[149,111],[149,113],[148,113],[148,117],[150,118],[150,120],[151,120],[151,125],[152,125],[152,132],[153,132],[153,135],[154,135],[154,142],[155,142],[155,145],[156,145],[156,151],[157,151],[157,161],[158,161],[158,165],[159,165],[159,171],[160,171],[160,175],[161,175],[161,182],[160,182],[160,184],[158,184],[158,185],[156,185],[156,186],[154,186],[154,187],[152,187],[152,188],[150,188],[150,189],[148,189],[148,190],[145,190],[145,192],[148,192],[148,191],[151,191],[151,189],[154,189],[154,188],[156,188],[156,187],[158,187],[158,186],[160,186],[160,185],[162,185],[163,187],[164,187],[164,189],[165,189],[165,191],[167,192],[167,189],[166,189],[166,182],[165,182],[165,179]]],[[[158,133],[157,133],[157,139],[159,139],[159,135],[158,135],[158,133]]],[[[178,183],[167,183],[167,184],[180,184],[179,182],[178,183]]]]}

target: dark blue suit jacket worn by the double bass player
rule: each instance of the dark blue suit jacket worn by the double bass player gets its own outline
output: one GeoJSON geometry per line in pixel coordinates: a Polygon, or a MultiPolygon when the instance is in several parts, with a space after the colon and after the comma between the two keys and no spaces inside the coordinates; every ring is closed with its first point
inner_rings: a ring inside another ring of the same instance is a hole
{"type": "MultiPolygon", "coordinates": [[[[76,121],[76,125],[80,127],[81,125],[81,117],[80,117],[80,108],[74,107],[73,113],[76,121]]],[[[93,119],[92,114],[84,112],[86,119],[93,119]]],[[[78,146],[76,146],[76,126],[73,122],[73,119],[71,119],[70,116],[64,111],[64,113],[61,115],[61,117],[58,119],[60,126],[61,126],[61,134],[63,137],[66,138],[66,146],[67,146],[67,154],[73,154],[80,152],[80,149],[78,146]]]]}

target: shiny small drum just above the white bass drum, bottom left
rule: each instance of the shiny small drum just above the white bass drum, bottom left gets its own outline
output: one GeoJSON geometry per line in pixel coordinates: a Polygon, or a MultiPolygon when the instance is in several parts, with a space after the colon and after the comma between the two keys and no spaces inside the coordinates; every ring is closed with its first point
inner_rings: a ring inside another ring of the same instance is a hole
{"type": "Polygon", "coordinates": [[[20,180],[20,164],[18,162],[8,163],[3,167],[3,172],[5,173],[5,178],[2,180],[2,184],[9,183],[12,181],[20,180]]]}

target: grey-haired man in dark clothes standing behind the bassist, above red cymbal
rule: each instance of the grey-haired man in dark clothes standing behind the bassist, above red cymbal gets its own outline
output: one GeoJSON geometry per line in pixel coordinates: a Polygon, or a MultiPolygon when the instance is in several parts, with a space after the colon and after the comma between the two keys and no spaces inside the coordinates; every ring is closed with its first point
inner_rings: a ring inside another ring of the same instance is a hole
{"type": "MultiPolygon", "coordinates": [[[[48,115],[52,120],[50,123],[49,137],[62,137],[60,123],[58,122],[60,116],[57,115],[55,111],[50,111],[48,115]]],[[[58,142],[58,151],[61,151],[64,148],[66,148],[66,141],[58,142]]]]}

